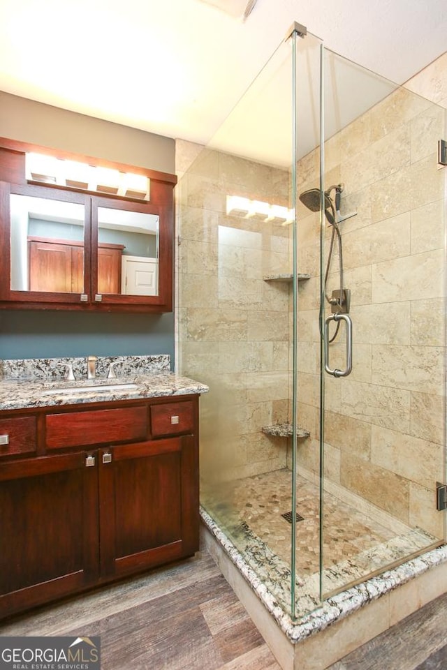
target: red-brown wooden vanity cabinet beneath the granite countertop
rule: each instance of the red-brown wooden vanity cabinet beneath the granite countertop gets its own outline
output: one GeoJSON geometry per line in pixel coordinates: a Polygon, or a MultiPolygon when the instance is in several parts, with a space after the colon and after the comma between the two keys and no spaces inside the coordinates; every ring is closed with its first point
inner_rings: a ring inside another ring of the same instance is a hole
{"type": "Polygon", "coordinates": [[[0,450],[0,618],[198,551],[198,396],[0,417],[20,424],[27,446],[0,450]]]}

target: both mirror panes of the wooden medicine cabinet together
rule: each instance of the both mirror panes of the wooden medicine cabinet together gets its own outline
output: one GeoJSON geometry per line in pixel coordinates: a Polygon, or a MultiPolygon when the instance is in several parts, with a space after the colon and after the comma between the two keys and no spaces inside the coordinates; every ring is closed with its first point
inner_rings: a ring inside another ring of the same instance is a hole
{"type": "MultiPolygon", "coordinates": [[[[10,194],[10,289],[89,293],[85,206],[10,194]]],[[[159,295],[159,216],[98,207],[98,293],[159,295]]]]}

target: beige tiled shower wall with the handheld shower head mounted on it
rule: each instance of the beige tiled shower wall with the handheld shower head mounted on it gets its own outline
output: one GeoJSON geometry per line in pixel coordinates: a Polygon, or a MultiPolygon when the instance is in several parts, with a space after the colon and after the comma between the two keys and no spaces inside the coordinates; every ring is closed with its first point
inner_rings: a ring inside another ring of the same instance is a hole
{"type": "MultiPolygon", "coordinates": [[[[344,183],[344,284],[351,289],[353,371],[325,375],[325,477],[411,526],[443,537],[435,511],[444,479],[444,109],[398,89],[325,142],[325,187],[344,183]]],[[[299,191],[318,186],[317,151],[300,162],[299,191]]],[[[298,461],[318,472],[318,214],[300,206],[298,461]]],[[[326,256],[330,228],[326,230],[326,256]]],[[[338,288],[338,255],[329,292],[338,288]]],[[[326,310],[328,313],[328,310],[326,310]]],[[[330,346],[344,367],[345,336],[330,346]]]]}

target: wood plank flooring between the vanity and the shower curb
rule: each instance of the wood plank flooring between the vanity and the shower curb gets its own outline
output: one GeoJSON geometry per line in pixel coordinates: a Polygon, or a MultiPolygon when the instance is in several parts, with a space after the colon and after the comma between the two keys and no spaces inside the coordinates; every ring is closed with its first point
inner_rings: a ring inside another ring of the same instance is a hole
{"type": "Polygon", "coordinates": [[[100,636],[101,670],[281,670],[206,551],[0,623],[0,635],[100,636]]]}

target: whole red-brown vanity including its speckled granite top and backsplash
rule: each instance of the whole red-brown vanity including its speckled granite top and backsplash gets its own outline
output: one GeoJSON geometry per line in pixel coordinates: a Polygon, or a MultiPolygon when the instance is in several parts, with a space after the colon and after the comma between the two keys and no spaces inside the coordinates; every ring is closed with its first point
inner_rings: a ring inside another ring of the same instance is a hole
{"type": "Polygon", "coordinates": [[[198,551],[207,386],[168,356],[98,358],[91,379],[86,359],[0,374],[1,618],[198,551]]]}

